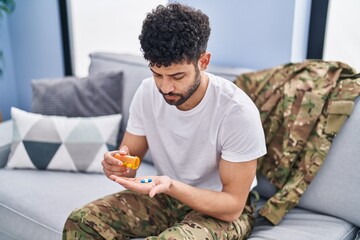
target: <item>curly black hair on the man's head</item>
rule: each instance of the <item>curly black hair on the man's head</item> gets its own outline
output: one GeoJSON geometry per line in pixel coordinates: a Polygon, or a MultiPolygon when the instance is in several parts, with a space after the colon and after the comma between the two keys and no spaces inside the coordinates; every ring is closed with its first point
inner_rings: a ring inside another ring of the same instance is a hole
{"type": "Polygon", "coordinates": [[[168,67],[173,63],[198,60],[206,51],[210,31],[206,14],[171,3],[159,5],[147,14],[139,40],[150,66],[168,67]]]}

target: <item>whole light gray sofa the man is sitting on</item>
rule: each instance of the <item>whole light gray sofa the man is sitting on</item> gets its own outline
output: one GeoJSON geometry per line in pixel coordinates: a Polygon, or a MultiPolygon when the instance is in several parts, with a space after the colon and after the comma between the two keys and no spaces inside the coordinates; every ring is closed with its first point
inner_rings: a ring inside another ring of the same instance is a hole
{"type": "MultiPolygon", "coordinates": [[[[122,71],[123,99],[120,133],[123,134],[131,98],[140,81],[150,72],[141,57],[91,54],[89,74],[122,71]]],[[[211,66],[209,72],[229,80],[248,69],[211,66]]],[[[257,217],[249,239],[332,240],[360,239],[360,103],[346,121],[298,207],[272,226],[257,217]]],[[[122,190],[101,173],[8,169],[5,167],[12,142],[12,121],[0,124],[0,239],[61,239],[68,214],[101,196],[122,190]]],[[[156,174],[147,154],[138,175],[156,174]]],[[[275,188],[258,176],[261,203],[275,188]]]]}

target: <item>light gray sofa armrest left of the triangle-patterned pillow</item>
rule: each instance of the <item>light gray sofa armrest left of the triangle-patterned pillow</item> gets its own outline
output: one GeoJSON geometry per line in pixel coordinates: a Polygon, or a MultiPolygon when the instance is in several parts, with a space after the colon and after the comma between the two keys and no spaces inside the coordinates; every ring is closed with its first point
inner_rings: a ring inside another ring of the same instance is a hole
{"type": "Polygon", "coordinates": [[[0,123],[0,168],[3,168],[10,154],[12,141],[12,120],[0,123]]]}

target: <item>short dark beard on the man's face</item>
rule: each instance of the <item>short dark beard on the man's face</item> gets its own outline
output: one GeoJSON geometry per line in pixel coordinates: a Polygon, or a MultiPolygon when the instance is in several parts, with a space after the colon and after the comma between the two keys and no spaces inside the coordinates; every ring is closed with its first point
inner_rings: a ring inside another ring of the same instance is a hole
{"type": "Polygon", "coordinates": [[[160,89],[160,93],[163,95],[165,102],[167,102],[170,105],[174,105],[174,106],[180,106],[181,104],[185,103],[193,94],[194,92],[196,92],[196,90],[199,88],[200,86],[200,70],[198,66],[195,66],[195,77],[194,77],[194,82],[192,85],[190,85],[190,87],[187,89],[187,91],[184,94],[181,93],[163,93],[160,89]],[[176,100],[173,99],[168,99],[166,98],[167,96],[169,97],[178,97],[176,100]]]}

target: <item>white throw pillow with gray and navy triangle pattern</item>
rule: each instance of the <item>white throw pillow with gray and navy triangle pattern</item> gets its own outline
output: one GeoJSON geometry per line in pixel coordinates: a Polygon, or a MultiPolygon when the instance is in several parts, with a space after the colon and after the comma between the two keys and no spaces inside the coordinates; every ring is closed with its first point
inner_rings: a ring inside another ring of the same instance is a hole
{"type": "Polygon", "coordinates": [[[13,140],[7,168],[101,172],[114,150],[121,114],[63,117],[11,108],[13,140]]]}

